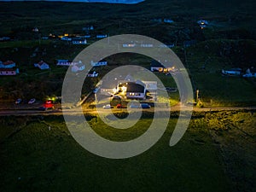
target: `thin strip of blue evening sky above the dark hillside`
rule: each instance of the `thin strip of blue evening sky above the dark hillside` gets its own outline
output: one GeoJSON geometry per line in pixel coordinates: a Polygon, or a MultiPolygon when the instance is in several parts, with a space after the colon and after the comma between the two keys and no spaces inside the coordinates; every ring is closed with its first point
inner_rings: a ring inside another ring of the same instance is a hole
{"type": "Polygon", "coordinates": [[[123,3],[136,4],[144,0],[0,0],[0,2],[84,2],[84,3],[123,3]]]}

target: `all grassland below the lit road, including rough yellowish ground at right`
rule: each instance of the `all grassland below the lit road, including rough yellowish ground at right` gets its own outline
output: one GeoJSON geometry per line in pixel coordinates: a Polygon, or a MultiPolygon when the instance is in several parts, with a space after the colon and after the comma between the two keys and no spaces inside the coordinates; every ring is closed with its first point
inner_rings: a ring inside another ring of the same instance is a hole
{"type": "MultiPolygon", "coordinates": [[[[194,114],[189,130],[171,148],[168,143],[177,122],[173,115],[164,136],[154,147],[124,160],[90,154],[74,141],[61,117],[29,118],[20,131],[1,143],[0,189],[3,192],[256,189],[252,126],[255,113],[194,114]],[[216,118],[224,119],[224,124],[214,123],[216,118]],[[247,149],[242,151],[242,148],[247,149]]],[[[151,122],[146,118],[129,130],[115,131],[95,118],[90,117],[94,130],[115,141],[140,136],[151,122]]],[[[2,118],[2,121],[17,126],[14,119],[2,118]]],[[[10,126],[5,123],[1,129],[10,126]]]]}

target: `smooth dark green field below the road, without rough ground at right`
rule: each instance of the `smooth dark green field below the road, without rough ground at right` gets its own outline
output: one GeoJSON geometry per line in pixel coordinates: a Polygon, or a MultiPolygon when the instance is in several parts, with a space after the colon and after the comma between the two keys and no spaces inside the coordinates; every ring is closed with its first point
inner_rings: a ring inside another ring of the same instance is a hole
{"type": "MultiPolygon", "coordinates": [[[[0,189],[229,191],[228,178],[204,120],[192,120],[183,139],[170,148],[176,121],[170,120],[164,136],[147,152],[125,160],[110,160],[81,148],[61,118],[34,119],[1,144],[0,189]]],[[[96,129],[104,137],[137,137],[150,122],[151,119],[143,119],[132,131],[121,131],[117,136],[100,120],[96,129]]]]}

